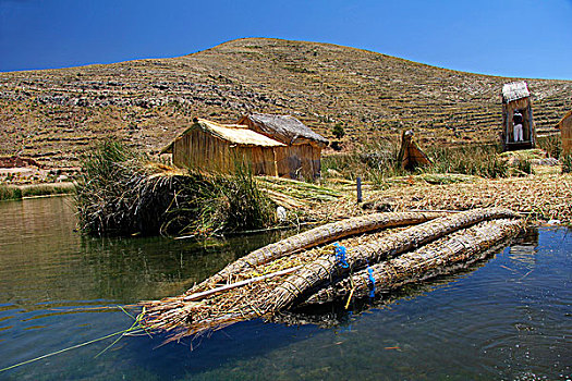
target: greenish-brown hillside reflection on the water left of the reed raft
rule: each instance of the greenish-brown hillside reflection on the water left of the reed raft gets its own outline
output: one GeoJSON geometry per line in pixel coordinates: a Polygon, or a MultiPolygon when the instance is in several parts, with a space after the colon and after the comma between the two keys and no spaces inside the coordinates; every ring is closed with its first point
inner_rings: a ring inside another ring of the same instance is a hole
{"type": "Polygon", "coordinates": [[[181,293],[280,234],[203,243],[88,237],[73,232],[74,209],[63,197],[0,202],[0,303],[28,309],[48,300],[135,303],[181,293]]]}

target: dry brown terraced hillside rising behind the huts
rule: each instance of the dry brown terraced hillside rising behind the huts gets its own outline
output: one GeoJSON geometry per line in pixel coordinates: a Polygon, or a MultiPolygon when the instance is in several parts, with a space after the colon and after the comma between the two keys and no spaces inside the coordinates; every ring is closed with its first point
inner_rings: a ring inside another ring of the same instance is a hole
{"type": "MultiPolygon", "coordinates": [[[[102,136],[156,152],[193,116],[233,122],[290,113],[342,146],[415,127],[424,145],[492,142],[513,79],[428,66],[327,44],[247,38],[194,54],[0,73],[0,156],[70,167],[102,136]]],[[[537,127],[572,109],[572,82],[527,79],[537,127]]]]}

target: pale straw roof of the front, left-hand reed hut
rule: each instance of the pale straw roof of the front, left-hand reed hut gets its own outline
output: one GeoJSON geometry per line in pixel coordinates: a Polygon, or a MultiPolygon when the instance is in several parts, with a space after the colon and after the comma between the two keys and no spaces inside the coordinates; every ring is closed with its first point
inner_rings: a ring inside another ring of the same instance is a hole
{"type": "Polygon", "coordinates": [[[207,121],[204,119],[198,119],[193,123],[193,125],[188,128],[186,128],[183,133],[181,133],[171,144],[169,144],[167,147],[165,147],[161,150],[161,153],[171,153],[173,144],[190,133],[191,131],[194,131],[196,128],[200,128],[204,132],[211,134],[214,136],[217,136],[218,138],[221,138],[223,140],[227,140],[231,144],[236,144],[240,146],[256,146],[256,147],[283,147],[284,144],[271,139],[268,136],[265,136],[263,134],[258,134],[257,132],[254,132],[250,130],[247,126],[242,124],[219,124],[216,122],[207,121]]]}

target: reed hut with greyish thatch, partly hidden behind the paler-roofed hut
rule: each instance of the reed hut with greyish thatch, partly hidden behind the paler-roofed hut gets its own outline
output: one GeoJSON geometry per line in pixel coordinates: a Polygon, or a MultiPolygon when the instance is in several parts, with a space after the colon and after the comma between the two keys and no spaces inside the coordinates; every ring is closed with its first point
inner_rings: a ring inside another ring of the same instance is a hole
{"type": "Polygon", "coordinates": [[[328,140],[290,115],[254,113],[241,118],[238,124],[276,139],[287,146],[284,156],[277,161],[278,175],[289,179],[320,176],[321,150],[328,140]]]}

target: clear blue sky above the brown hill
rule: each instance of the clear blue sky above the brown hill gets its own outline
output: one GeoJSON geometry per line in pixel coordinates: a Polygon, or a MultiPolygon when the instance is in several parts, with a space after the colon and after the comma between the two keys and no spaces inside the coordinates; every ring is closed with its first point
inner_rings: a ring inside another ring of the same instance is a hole
{"type": "Polygon", "coordinates": [[[0,71],[177,57],[241,37],[572,79],[572,0],[0,0],[0,71]]]}

